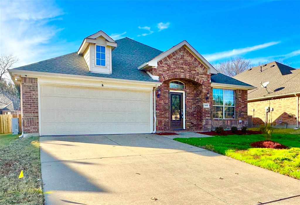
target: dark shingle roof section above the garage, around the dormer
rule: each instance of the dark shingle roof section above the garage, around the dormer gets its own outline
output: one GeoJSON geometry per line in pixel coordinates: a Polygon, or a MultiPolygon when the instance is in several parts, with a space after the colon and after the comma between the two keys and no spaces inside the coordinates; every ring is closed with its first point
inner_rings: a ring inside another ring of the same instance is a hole
{"type": "Polygon", "coordinates": [[[145,71],[138,70],[137,67],[158,56],[162,51],[127,37],[116,40],[116,42],[118,46],[112,51],[113,72],[110,75],[89,72],[84,57],[76,52],[14,69],[157,82],[145,71]]]}

